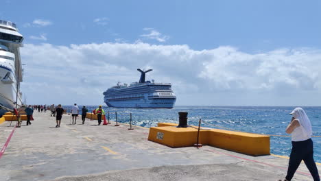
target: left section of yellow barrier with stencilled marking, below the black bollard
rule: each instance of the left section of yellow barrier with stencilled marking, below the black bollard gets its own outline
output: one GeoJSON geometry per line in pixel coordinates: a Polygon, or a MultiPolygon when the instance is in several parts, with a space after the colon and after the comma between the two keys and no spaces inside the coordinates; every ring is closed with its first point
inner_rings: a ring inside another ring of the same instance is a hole
{"type": "MultiPolygon", "coordinates": [[[[148,135],[154,141],[169,147],[189,147],[197,143],[198,130],[195,128],[152,127],[148,135]]],[[[200,130],[199,143],[209,144],[209,130],[200,130]]]]}

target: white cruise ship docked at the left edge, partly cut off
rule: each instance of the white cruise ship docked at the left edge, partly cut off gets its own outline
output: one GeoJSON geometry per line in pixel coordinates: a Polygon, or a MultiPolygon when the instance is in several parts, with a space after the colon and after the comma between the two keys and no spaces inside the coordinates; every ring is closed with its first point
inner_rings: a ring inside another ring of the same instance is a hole
{"type": "MultiPolygon", "coordinates": [[[[16,24],[0,20],[0,105],[7,108],[20,107],[23,69],[19,48],[23,47],[23,36],[16,24]]],[[[0,110],[0,116],[5,110],[0,110]]]]}

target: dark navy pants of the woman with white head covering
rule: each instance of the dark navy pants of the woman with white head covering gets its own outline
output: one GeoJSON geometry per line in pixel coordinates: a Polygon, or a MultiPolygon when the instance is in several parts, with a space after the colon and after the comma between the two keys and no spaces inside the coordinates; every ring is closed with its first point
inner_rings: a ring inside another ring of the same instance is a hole
{"type": "Polygon", "coordinates": [[[305,165],[309,169],[314,181],[320,181],[318,168],[316,162],[313,160],[313,141],[310,139],[306,141],[292,141],[292,151],[289,159],[289,168],[287,169],[287,180],[291,180],[300,165],[304,160],[305,165]]]}

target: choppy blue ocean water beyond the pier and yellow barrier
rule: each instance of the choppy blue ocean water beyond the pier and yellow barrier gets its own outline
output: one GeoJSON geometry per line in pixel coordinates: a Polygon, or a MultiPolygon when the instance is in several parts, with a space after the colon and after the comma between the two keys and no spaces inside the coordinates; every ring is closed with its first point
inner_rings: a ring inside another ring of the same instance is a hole
{"type": "MultiPolygon", "coordinates": [[[[80,109],[82,106],[79,106],[80,109]]],[[[89,111],[97,106],[86,106],[89,111]]],[[[64,106],[70,108],[70,106],[64,106]]],[[[108,108],[110,120],[115,121],[115,112],[120,123],[128,123],[130,112],[132,124],[146,128],[156,126],[158,122],[178,123],[178,112],[188,112],[188,124],[207,128],[236,130],[258,134],[280,135],[270,137],[271,154],[289,156],[291,152],[291,138],[284,137],[285,128],[291,121],[291,112],[295,107],[256,107],[256,106],[176,106],[173,109],[135,109],[108,108]]],[[[321,107],[302,107],[312,124],[314,158],[321,162],[321,107]]]]}

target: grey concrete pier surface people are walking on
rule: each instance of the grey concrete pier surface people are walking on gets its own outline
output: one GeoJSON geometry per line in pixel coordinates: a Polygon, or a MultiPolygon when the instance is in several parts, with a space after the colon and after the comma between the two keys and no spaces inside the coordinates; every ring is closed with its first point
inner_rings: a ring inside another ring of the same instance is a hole
{"type": "MultiPolygon", "coordinates": [[[[276,156],[247,156],[204,146],[171,148],[147,141],[149,129],[99,125],[81,117],[60,128],[49,112],[34,112],[32,125],[16,128],[0,159],[3,180],[278,180],[288,161],[276,156]]],[[[14,123],[0,125],[1,147],[14,123]]],[[[318,165],[319,174],[321,171],[318,165]]],[[[321,175],[321,174],[320,174],[321,175]]],[[[313,180],[302,162],[293,180],[313,180]]]]}

